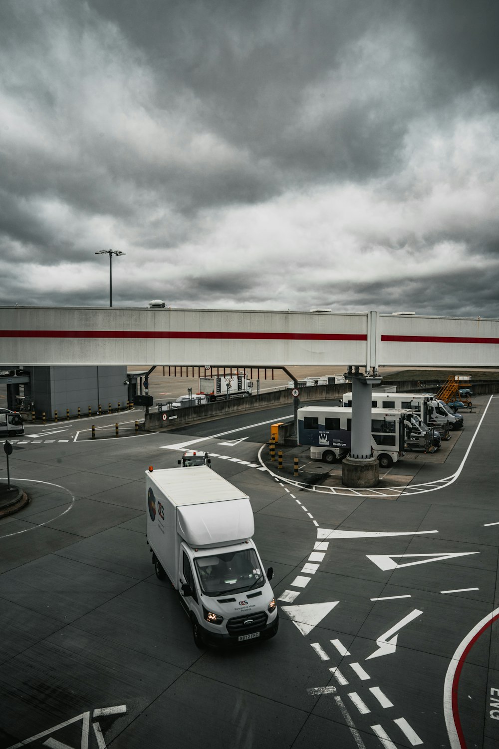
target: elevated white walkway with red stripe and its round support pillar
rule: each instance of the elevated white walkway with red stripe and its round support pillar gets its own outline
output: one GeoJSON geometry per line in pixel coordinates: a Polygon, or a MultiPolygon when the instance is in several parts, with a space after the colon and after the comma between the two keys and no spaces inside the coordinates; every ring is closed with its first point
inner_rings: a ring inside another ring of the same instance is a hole
{"type": "Polygon", "coordinates": [[[499,320],[376,311],[0,307],[0,368],[129,363],[348,367],[352,446],[343,482],[373,486],[379,465],[370,457],[370,394],[379,368],[497,368],[499,320]]]}

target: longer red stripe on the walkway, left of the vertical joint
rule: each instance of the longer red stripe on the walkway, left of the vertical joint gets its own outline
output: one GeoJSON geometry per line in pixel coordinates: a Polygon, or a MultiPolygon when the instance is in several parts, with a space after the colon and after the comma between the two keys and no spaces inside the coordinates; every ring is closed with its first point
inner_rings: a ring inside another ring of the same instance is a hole
{"type": "Polygon", "coordinates": [[[230,339],[260,341],[367,341],[365,333],[222,333],[195,330],[0,330],[0,338],[230,339]]]}

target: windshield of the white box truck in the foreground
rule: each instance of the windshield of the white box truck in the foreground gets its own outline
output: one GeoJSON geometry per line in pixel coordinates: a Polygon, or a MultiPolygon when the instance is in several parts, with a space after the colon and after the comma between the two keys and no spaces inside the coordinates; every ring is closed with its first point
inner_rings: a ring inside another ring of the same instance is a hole
{"type": "Polygon", "coordinates": [[[260,562],[252,548],[212,557],[195,557],[195,565],[205,595],[224,595],[260,588],[265,582],[260,562]]]}

